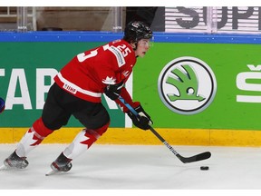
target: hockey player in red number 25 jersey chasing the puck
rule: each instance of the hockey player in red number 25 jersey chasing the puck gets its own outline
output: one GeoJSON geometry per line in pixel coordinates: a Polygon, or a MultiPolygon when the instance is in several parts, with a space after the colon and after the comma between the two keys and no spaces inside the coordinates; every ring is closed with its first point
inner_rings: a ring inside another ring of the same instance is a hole
{"type": "Polygon", "coordinates": [[[150,129],[150,115],[139,102],[133,102],[124,87],[137,57],[143,57],[150,48],[152,32],[143,22],[126,25],[121,40],[78,54],[54,77],[42,116],[24,134],[15,151],[5,159],[6,168],[24,169],[26,157],[45,137],[66,125],[73,115],[84,129],[51,163],[53,171],[70,171],[72,161],[92,146],[109,127],[110,116],[102,105],[102,93],[120,104],[134,125],[150,129]],[[118,99],[119,96],[140,114],[133,115],[118,99]]]}

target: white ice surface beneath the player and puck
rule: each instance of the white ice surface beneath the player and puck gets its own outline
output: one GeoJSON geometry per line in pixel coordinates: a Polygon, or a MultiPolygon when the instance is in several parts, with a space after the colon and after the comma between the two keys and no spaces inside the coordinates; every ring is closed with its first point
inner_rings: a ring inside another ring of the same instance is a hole
{"type": "MultiPolygon", "coordinates": [[[[14,152],[15,146],[0,144],[0,160],[4,161],[14,152]]],[[[46,177],[50,163],[66,146],[40,144],[29,153],[26,169],[0,171],[0,193],[5,190],[107,190],[106,195],[110,190],[154,190],[154,193],[159,190],[236,190],[242,193],[261,188],[261,148],[172,145],[185,157],[208,151],[212,154],[208,160],[185,164],[163,144],[93,144],[73,160],[71,171],[46,177]],[[200,171],[200,166],[208,166],[209,170],[200,171]]]]}

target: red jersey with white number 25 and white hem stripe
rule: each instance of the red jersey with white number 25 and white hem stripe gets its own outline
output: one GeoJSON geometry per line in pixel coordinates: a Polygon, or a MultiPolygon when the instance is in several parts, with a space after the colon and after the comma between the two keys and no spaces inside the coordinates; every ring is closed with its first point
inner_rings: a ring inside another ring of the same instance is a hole
{"type": "MultiPolygon", "coordinates": [[[[131,44],[116,40],[76,55],[54,77],[54,81],[74,96],[101,103],[104,88],[121,81],[126,83],[135,64],[136,56],[131,44]]],[[[127,102],[131,101],[126,89],[122,89],[121,96],[127,102]]],[[[135,106],[132,101],[131,105],[135,106]]]]}

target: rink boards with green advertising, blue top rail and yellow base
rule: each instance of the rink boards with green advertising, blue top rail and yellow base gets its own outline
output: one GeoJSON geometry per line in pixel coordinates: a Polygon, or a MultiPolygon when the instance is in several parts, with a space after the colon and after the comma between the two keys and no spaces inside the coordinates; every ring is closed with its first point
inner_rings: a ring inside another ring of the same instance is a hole
{"type": "MultiPolygon", "coordinates": [[[[66,34],[1,34],[0,96],[5,99],[5,113],[0,116],[0,132],[13,135],[6,140],[1,136],[0,142],[19,140],[41,115],[53,76],[75,54],[122,36],[66,34]],[[21,133],[14,136],[14,132],[21,133]]],[[[155,33],[150,51],[134,67],[128,86],[133,100],[142,103],[153,127],[164,132],[170,143],[260,145],[254,137],[260,130],[260,38],[251,34],[186,35],[155,33]]],[[[148,133],[129,131],[130,120],[121,109],[105,96],[102,103],[111,115],[108,137],[121,132],[126,141],[140,137],[144,142],[148,133]]],[[[78,132],[81,127],[72,117],[65,129],[78,132]]]]}

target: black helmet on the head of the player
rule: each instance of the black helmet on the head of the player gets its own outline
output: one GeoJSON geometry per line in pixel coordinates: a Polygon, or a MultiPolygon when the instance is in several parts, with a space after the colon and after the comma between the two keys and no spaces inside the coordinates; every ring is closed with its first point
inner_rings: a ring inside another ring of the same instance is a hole
{"type": "Polygon", "coordinates": [[[151,39],[150,26],[141,21],[131,21],[126,25],[123,39],[129,43],[137,43],[140,39],[151,39]]]}

